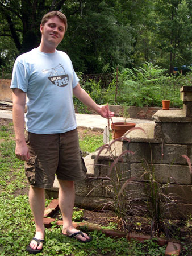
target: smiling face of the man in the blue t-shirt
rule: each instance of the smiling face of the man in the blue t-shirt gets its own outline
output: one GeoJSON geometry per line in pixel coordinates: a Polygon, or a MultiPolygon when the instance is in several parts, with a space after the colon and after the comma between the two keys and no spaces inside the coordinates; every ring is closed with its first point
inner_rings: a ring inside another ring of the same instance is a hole
{"type": "Polygon", "coordinates": [[[57,16],[54,16],[44,24],[41,24],[40,31],[44,43],[54,45],[55,48],[62,41],[65,34],[65,24],[57,16]]]}

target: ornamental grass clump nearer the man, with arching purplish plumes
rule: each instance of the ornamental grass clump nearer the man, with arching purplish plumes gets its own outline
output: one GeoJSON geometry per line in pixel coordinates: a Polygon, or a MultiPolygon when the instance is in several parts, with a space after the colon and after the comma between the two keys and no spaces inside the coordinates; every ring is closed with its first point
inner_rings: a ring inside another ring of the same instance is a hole
{"type": "MultiPolygon", "coordinates": [[[[132,128],[127,133],[134,129],[143,130],[141,128],[132,128]]],[[[137,204],[137,202],[141,201],[141,193],[138,189],[133,188],[137,180],[134,177],[130,177],[128,165],[128,154],[133,155],[134,152],[124,150],[118,156],[116,152],[117,143],[123,139],[126,140],[126,134],[122,138],[114,139],[110,143],[103,145],[95,158],[95,166],[99,165],[108,169],[108,174],[99,178],[110,181],[106,185],[107,198],[97,200],[97,203],[101,203],[102,209],[111,209],[116,214],[118,228],[124,231],[129,229],[130,217],[138,215],[142,208],[140,204],[137,204]],[[107,154],[107,161],[105,161],[105,164],[96,164],[102,152],[107,154]]]]}

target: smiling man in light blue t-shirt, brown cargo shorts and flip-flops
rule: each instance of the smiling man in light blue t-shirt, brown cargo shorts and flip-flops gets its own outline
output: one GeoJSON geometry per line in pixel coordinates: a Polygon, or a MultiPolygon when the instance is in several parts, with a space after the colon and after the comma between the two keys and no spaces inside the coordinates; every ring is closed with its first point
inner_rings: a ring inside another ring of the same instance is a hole
{"type": "Polygon", "coordinates": [[[68,55],[56,50],[66,29],[64,14],[52,11],[44,15],[40,25],[40,46],[20,55],[12,73],[15,154],[26,161],[26,176],[31,185],[29,201],[36,223],[35,237],[27,246],[27,251],[32,254],[43,249],[44,189],[52,187],[55,174],[60,185],[62,233],[81,242],[91,241],[91,237],[78,232],[72,225],[74,181],[86,177],[78,145],[73,94],[102,117],[114,115],[106,106],[97,105],[89,97],[78,83],[68,55]]]}

